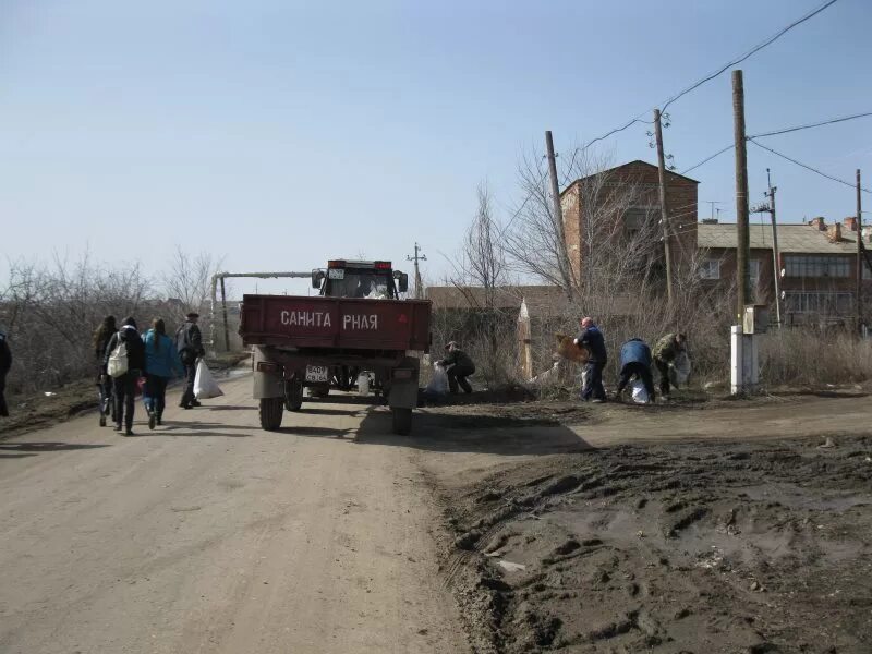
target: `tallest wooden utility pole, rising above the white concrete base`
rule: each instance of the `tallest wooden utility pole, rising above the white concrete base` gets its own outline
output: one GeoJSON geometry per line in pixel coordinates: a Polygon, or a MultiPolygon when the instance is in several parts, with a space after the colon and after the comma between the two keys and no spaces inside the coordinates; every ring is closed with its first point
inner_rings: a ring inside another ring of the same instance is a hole
{"type": "Polygon", "coordinates": [[[732,71],[732,131],[736,143],[736,295],[739,323],[744,315],[744,305],[751,299],[749,275],[751,242],[748,231],[748,145],[744,136],[744,84],[742,72],[732,71]]]}

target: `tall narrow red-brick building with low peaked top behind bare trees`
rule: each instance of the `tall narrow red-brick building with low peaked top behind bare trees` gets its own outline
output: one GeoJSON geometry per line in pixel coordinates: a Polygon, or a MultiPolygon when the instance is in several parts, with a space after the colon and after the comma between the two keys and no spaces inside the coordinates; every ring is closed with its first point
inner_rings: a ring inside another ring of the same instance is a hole
{"type": "MultiPolygon", "coordinates": [[[[697,185],[699,182],[675,172],[666,173],[666,207],[673,227],[673,261],[680,264],[695,249],[697,185]]],[[[569,184],[560,194],[564,230],[576,278],[581,277],[584,234],[603,232],[591,229],[589,221],[619,221],[620,229],[610,233],[631,237],[642,229],[658,229],[659,177],[657,167],[642,160],[630,161],[569,184]],[[593,205],[589,208],[588,205],[593,205]]]]}

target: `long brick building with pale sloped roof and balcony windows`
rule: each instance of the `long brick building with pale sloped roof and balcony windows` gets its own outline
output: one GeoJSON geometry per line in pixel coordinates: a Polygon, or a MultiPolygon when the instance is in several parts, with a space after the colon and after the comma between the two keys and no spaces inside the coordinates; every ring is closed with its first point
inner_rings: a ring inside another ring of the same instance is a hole
{"type": "MultiPolygon", "coordinates": [[[[778,226],[778,271],[784,270],[783,319],[786,325],[847,323],[856,316],[857,221],[826,225],[823,217],[804,225],[778,226]]],[[[865,231],[865,230],[864,230],[865,231]]],[[[736,280],[737,232],[735,223],[703,220],[698,226],[698,246],[705,258],[701,274],[713,284],[736,280]]],[[[775,266],[772,227],[751,225],[751,288],[754,301],[775,301],[775,266]]],[[[869,242],[869,233],[863,234],[869,242]]],[[[872,275],[863,270],[865,298],[872,292],[872,275]]],[[[773,319],[774,319],[773,312],[773,319]]]]}

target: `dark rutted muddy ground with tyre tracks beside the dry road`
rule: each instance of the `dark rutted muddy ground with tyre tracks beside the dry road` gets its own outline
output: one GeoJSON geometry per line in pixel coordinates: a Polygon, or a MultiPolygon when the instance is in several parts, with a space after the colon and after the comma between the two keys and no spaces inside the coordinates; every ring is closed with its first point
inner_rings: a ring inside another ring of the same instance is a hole
{"type": "Polygon", "coordinates": [[[872,651],[872,436],[623,445],[447,492],[482,652],[872,651]]]}

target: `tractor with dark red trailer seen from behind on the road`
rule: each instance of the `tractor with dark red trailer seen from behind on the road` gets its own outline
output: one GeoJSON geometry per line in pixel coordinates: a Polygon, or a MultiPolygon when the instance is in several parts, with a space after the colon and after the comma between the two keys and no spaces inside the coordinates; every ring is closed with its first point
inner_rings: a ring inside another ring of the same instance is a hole
{"type": "Polygon", "coordinates": [[[240,336],[253,350],[261,426],[300,411],[303,388],[348,390],[360,371],[391,409],[393,432],[409,434],[421,356],[431,344],[431,303],[400,300],[408,277],[390,262],[336,259],[312,271],[318,296],[243,295],[240,336]]]}

